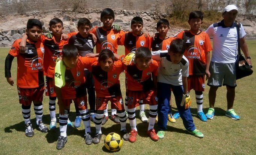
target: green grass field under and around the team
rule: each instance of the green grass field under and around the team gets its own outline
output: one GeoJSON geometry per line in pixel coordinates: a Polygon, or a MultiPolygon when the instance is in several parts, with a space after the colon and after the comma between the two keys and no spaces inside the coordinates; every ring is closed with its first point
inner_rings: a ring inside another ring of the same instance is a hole
{"type": "MultiPolygon", "coordinates": [[[[247,40],[247,45],[252,57],[252,64],[256,66],[256,41],[247,40]]],[[[83,140],[84,127],[81,124],[79,128],[68,128],[68,142],[61,150],[56,149],[56,141],[59,136],[59,126],[55,130],[48,133],[41,133],[36,130],[35,113],[31,108],[31,121],[35,135],[26,137],[24,134],[24,121],[21,114],[21,105],[18,103],[17,87],[10,86],[6,82],[4,75],[4,62],[8,54],[9,48],[0,48],[0,154],[109,154],[103,147],[105,136],[110,132],[120,133],[120,125],[109,120],[102,127],[103,137],[97,145],[86,145],[83,140]]],[[[123,48],[120,47],[122,52],[123,48]]],[[[17,63],[16,58],[12,63],[12,76],[16,82],[17,63]]],[[[120,151],[113,154],[256,154],[256,106],[254,97],[256,95],[254,88],[256,73],[237,81],[236,97],[234,109],[240,116],[239,121],[234,121],[225,116],[227,108],[226,88],[221,87],[217,91],[217,99],[215,103],[215,117],[207,122],[202,122],[197,117],[197,108],[195,103],[194,91],[191,91],[192,106],[191,113],[194,123],[200,131],[203,132],[204,138],[199,139],[189,134],[183,124],[182,119],[177,119],[176,123],[168,122],[167,131],[164,139],[153,142],[146,134],[147,125],[142,123],[138,118],[138,110],[136,111],[136,123],[138,128],[138,138],[135,143],[124,141],[120,151]]],[[[121,75],[121,88],[123,95],[125,94],[124,74],[121,75]]],[[[204,112],[209,107],[208,101],[209,87],[206,86],[204,92],[204,112]]],[[[173,100],[174,103],[174,100],[173,100]]],[[[43,122],[49,126],[50,115],[48,110],[48,98],[44,96],[44,116],[43,122]]],[[[71,104],[71,113],[69,118],[71,121],[75,119],[74,104],[71,104]]],[[[32,106],[33,107],[33,106],[32,106]]],[[[177,110],[174,104],[174,111],[177,110]]],[[[110,107],[109,107],[110,108],[110,107]]],[[[146,115],[148,117],[148,106],[145,106],[146,115]]],[[[111,110],[110,110],[111,111],[111,110]]],[[[109,111],[109,113],[111,113],[109,111]]],[[[56,108],[58,113],[58,107],[56,108]]],[[[127,120],[127,129],[130,130],[129,121],[127,120]]],[[[155,125],[155,129],[157,129],[155,125]]],[[[91,123],[92,132],[95,126],[91,123]]]]}

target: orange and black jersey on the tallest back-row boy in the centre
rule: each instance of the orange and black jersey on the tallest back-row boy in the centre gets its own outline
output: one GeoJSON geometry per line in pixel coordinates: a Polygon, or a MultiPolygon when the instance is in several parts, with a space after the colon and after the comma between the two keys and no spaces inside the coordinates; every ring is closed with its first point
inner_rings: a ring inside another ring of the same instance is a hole
{"type": "Polygon", "coordinates": [[[101,49],[110,49],[117,54],[117,47],[120,45],[120,38],[124,31],[105,30],[103,27],[93,28],[91,33],[97,37],[96,53],[100,53],[101,49]]]}

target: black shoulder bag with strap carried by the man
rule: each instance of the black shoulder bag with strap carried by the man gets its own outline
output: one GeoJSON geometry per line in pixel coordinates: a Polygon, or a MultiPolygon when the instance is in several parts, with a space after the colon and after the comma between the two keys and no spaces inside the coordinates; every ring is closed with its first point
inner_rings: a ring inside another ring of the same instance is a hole
{"type": "Polygon", "coordinates": [[[249,76],[253,73],[251,69],[252,66],[248,64],[244,56],[241,54],[240,49],[240,31],[239,31],[239,23],[236,22],[236,31],[237,31],[237,45],[238,45],[238,55],[236,56],[236,79],[244,78],[245,76],[249,76]]]}

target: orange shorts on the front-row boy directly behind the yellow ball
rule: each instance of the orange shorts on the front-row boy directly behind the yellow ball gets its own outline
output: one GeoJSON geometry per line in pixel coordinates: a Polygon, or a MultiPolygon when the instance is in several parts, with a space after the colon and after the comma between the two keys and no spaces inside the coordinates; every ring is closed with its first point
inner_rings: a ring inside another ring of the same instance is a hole
{"type": "Polygon", "coordinates": [[[117,113],[124,112],[124,103],[122,96],[117,97],[96,97],[95,110],[98,114],[103,114],[107,108],[108,101],[111,102],[111,109],[117,109],[117,113]]]}

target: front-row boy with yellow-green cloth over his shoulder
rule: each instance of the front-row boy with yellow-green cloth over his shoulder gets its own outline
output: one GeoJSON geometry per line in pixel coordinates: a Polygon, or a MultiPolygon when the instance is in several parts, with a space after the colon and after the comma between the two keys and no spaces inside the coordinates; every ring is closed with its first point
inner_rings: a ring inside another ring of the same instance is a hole
{"type": "Polygon", "coordinates": [[[67,120],[72,100],[82,116],[85,143],[92,144],[84,69],[89,68],[96,60],[97,58],[79,57],[75,45],[63,46],[62,60],[55,66],[55,91],[58,97],[61,133],[57,141],[57,149],[62,149],[67,142],[67,120]]]}

